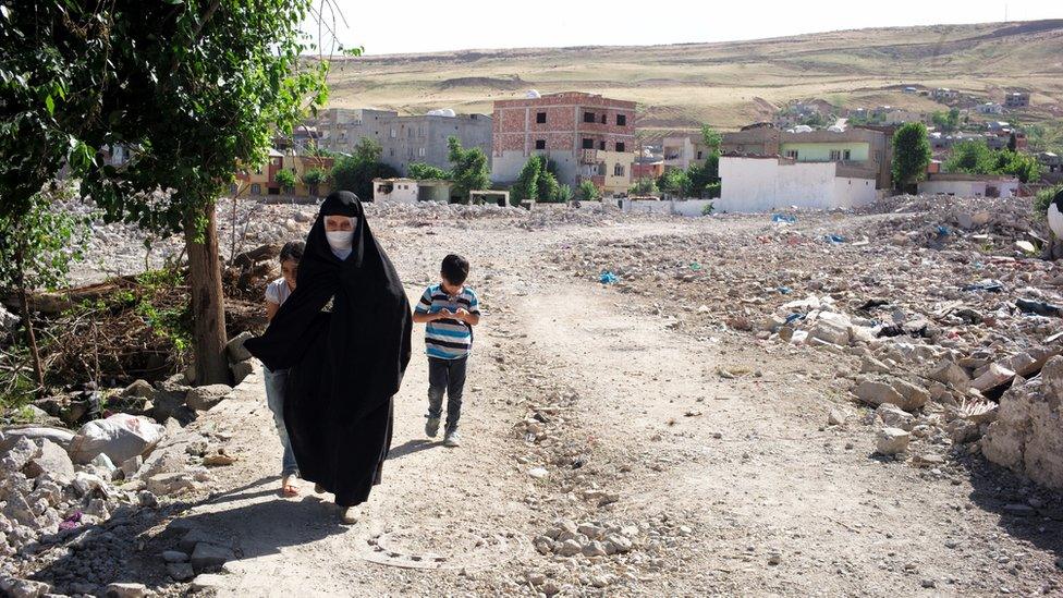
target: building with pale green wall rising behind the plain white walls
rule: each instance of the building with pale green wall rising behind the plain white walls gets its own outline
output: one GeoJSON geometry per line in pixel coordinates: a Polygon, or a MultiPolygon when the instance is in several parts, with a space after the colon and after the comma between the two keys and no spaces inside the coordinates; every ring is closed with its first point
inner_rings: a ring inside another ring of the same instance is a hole
{"type": "Polygon", "coordinates": [[[875,179],[876,188],[891,188],[892,139],[892,126],[858,126],[841,132],[790,132],[761,126],[725,133],[721,148],[724,154],[782,156],[796,162],[840,162],[875,179]]]}

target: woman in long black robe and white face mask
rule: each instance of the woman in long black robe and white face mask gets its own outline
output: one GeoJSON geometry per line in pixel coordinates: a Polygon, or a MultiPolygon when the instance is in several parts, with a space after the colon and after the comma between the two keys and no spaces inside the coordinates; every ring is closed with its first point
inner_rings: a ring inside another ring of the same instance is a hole
{"type": "Polygon", "coordinates": [[[410,363],[410,304],[350,192],[326,198],[306,237],[295,291],[245,346],[290,368],[284,424],[302,477],[335,495],[343,521],[380,484],[392,396],[410,363]]]}

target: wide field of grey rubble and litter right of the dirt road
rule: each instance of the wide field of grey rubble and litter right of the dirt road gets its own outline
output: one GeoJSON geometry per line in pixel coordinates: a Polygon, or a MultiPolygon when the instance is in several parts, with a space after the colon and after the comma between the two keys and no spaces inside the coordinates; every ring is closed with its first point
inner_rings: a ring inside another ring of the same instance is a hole
{"type": "Polygon", "coordinates": [[[1063,472],[1041,448],[1059,448],[1055,437],[1030,438],[1044,427],[1037,410],[1059,429],[1059,401],[1036,399],[1046,393],[1026,380],[1063,353],[1063,272],[1015,246],[1040,234],[1029,215],[1021,198],[901,197],[846,219],[851,230],[836,230],[833,213],[765,216],[752,228],[736,217],[731,232],[586,243],[553,259],[651,298],[669,328],[836,354],[841,389],[875,410],[866,423],[881,428],[879,453],[928,466],[953,444],[978,451],[992,429],[990,459],[1063,472]],[[993,424],[998,400],[1012,424],[993,424]]]}

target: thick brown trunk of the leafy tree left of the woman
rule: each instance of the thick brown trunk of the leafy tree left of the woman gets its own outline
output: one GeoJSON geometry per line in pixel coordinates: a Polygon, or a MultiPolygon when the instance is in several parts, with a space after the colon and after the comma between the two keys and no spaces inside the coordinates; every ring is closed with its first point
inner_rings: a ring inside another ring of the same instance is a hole
{"type": "Polygon", "coordinates": [[[192,333],[196,357],[196,383],[230,383],[225,358],[225,308],[221,293],[221,260],[218,255],[218,225],[215,202],[203,216],[207,225],[200,240],[196,215],[184,221],[185,247],[188,251],[188,289],[192,291],[192,333]]]}

